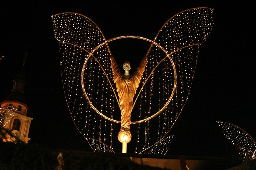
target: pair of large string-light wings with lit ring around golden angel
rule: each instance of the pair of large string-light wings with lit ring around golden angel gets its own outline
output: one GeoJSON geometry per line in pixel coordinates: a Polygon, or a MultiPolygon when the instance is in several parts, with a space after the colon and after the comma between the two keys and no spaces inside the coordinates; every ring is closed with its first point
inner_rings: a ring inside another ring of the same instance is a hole
{"type": "Polygon", "coordinates": [[[95,140],[111,150],[121,147],[117,140],[121,111],[108,44],[122,38],[149,42],[147,65],[134,97],[128,152],[143,153],[162,141],[186,103],[199,46],[213,26],[213,9],[193,8],[174,15],[154,40],[138,36],[106,40],[91,19],[77,13],[52,19],[70,115],[93,150],[95,140]]]}

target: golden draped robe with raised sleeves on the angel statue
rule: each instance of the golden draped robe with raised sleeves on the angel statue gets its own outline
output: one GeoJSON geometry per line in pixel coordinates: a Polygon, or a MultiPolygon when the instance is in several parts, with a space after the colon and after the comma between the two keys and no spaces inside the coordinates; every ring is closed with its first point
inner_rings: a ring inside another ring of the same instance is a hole
{"type": "Polygon", "coordinates": [[[128,127],[130,130],[133,99],[139,83],[141,82],[141,77],[145,70],[146,62],[147,56],[143,57],[136,71],[131,75],[130,79],[124,80],[122,78],[122,73],[117,65],[117,62],[115,61],[115,58],[111,56],[113,79],[117,87],[119,108],[121,110],[121,129],[126,129],[128,127]]]}

